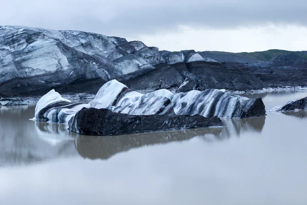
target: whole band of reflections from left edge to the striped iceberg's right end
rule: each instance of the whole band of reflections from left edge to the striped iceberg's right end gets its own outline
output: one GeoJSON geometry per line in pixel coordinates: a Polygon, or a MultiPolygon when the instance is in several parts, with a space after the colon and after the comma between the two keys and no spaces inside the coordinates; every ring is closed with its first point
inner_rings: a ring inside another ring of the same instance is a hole
{"type": "Polygon", "coordinates": [[[227,127],[191,129],[124,136],[100,137],[70,133],[67,125],[29,120],[34,107],[0,108],[0,162],[2,165],[41,162],[47,159],[81,155],[108,159],[133,148],[189,140],[195,136],[207,142],[222,141],[244,132],[261,132],[265,117],[223,120],[227,127]]]}

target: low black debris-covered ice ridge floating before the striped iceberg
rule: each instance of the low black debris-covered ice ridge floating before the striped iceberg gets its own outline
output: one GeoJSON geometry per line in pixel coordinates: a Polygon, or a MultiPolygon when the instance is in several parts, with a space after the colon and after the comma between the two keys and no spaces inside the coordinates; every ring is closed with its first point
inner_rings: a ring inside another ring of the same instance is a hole
{"type": "Polygon", "coordinates": [[[69,121],[69,130],[85,135],[123,135],[172,129],[223,126],[218,117],[200,115],[128,115],[107,109],[83,108],[69,121]]]}

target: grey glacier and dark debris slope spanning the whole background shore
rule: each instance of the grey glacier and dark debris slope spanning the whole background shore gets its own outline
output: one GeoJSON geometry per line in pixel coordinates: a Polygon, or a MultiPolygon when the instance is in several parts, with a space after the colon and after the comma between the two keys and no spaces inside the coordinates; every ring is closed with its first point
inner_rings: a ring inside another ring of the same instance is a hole
{"type": "Polygon", "coordinates": [[[279,52],[265,60],[250,53],[159,51],[97,33],[0,26],[0,104],[29,104],[52,89],[95,95],[112,79],[141,93],[305,87],[305,52],[279,52]]]}

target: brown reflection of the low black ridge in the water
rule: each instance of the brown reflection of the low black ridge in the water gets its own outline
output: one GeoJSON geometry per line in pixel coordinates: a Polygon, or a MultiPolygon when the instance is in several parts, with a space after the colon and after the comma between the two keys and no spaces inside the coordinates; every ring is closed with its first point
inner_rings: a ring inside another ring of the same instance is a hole
{"type": "Polygon", "coordinates": [[[115,137],[99,137],[75,135],[75,146],[78,153],[84,158],[108,159],[109,157],[133,148],[166,144],[171,141],[184,141],[195,136],[213,134],[219,135],[223,128],[191,129],[181,131],[166,131],[152,133],[138,133],[115,137]]]}

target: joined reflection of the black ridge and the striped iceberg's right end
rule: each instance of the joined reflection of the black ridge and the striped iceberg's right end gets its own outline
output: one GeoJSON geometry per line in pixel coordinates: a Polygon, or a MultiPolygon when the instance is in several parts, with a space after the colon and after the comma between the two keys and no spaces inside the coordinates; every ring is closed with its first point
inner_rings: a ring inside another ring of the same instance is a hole
{"type": "Polygon", "coordinates": [[[209,129],[191,129],[185,131],[167,131],[155,133],[139,133],[115,137],[75,136],[75,146],[84,158],[108,159],[109,157],[130,149],[143,146],[165,144],[172,141],[189,140],[195,136],[205,141],[221,141],[245,132],[261,132],[266,117],[225,120],[227,127],[209,129]]]}

